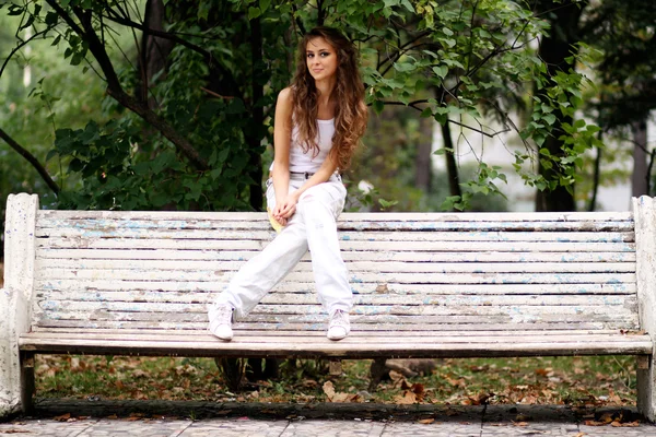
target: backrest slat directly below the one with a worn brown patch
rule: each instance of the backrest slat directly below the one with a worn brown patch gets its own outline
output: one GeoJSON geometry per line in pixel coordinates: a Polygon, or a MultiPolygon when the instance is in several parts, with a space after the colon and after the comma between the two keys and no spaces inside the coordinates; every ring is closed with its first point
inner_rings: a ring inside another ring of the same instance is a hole
{"type": "MultiPolygon", "coordinates": [[[[50,292],[42,291],[36,295],[37,302],[62,302],[74,306],[77,302],[121,302],[121,303],[151,303],[161,304],[197,304],[208,305],[216,297],[213,293],[177,293],[177,292],[50,292]]],[[[626,295],[397,295],[397,294],[356,294],[353,296],[355,307],[380,306],[380,305],[407,305],[407,306],[577,306],[577,305],[601,305],[601,306],[630,306],[637,303],[635,296],[626,295]]],[[[319,305],[315,293],[269,293],[261,300],[262,305],[319,305]]]]}

